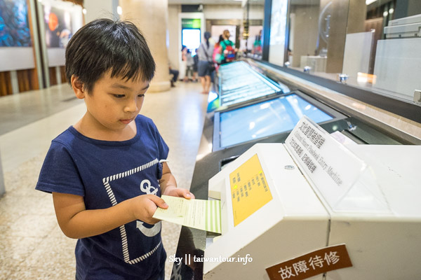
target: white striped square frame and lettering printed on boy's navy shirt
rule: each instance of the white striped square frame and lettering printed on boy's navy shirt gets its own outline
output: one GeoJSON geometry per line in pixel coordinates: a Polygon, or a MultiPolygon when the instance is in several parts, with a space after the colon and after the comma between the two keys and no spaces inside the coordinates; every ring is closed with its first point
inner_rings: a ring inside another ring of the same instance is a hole
{"type": "MultiPolygon", "coordinates": [[[[145,169],[147,169],[149,167],[154,167],[158,163],[159,163],[158,159],[154,159],[151,162],[145,163],[145,165],[141,165],[139,167],[135,167],[133,169],[130,169],[130,170],[126,171],[126,172],[121,172],[119,174],[114,174],[112,176],[107,176],[107,177],[103,178],[102,179],[102,183],[104,183],[105,190],[107,191],[109,200],[111,201],[112,205],[114,206],[114,205],[117,204],[116,198],[114,197],[114,193],[112,191],[112,187],[110,185],[110,183],[112,183],[112,181],[115,181],[115,180],[124,178],[126,176],[131,176],[131,175],[133,175],[135,173],[138,173],[138,172],[141,172],[142,170],[145,170],[145,169]]],[[[144,183],[144,181],[142,181],[142,183],[144,183]]],[[[149,181],[148,181],[149,184],[148,184],[147,187],[142,186],[142,183],[140,184],[140,189],[142,190],[142,188],[145,188],[145,190],[147,190],[147,191],[145,191],[145,193],[148,193],[148,192],[149,193],[153,193],[153,192],[156,193],[158,191],[158,188],[154,188],[154,187],[150,186],[150,182],[149,181]],[[152,192],[150,191],[151,188],[153,188],[152,192]]],[[[138,223],[136,223],[136,225],[138,225],[138,223]]],[[[144,225],[142,225],[142,227],[145,228],[144,225]]],[[[153,253],[155,253],[155,251],[159,248],[159,246],[162,245],[162,241],[159,241],[159,243],[156,244],[156,246],[152,249],[152,251],[150,251],[148,253],[145,253],[144,255],[141,255],[138,258],[135,258],[135,259],[132,259],[131,260],[131,258],[129,256],[129,253],[128,253],[128,243],[127,243],[127,235],[126,235],[125,225],[121,225],[121,227],[119,229],[120,229],[120,235],[121,235],[121,246],[123,248],[124,261],[127,262],[127,263],[129,263],[129,264],[131,264],[131,265],[133,265],[135,263],[138,263],[138,262],[140,262],[142,260],[145,260],[150,255],[152,255],[153,253]]],[[[156,227],[154,226],[153,228],[147,229],[147,230],[152,230],[152,229],[154,229],[153,232],[155,230],[158,230],[154,234],[154,235],[156,235],[159,232],[159,230],[161,229],[161,223],[159,223],[159,229],[158,229],[158,226],[156,226],[156,227]]],[[[147,230],[145,232],[148,232],[147,230]]],[[[140,231],[142,232],[142,230],[140,230],[140,231]]],[[[148,232],[148,234],[151,235],[153,232],[148,232]]],[[[142,233],[144,235],[146,235],[144,232],[142,232],[142,233]]],[[[147,235],[147,236],[149,236],[149,235],[147,235]]],[[[151,236],[154,236],[154,235],[151,235],[151,236]]]]}

